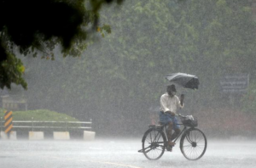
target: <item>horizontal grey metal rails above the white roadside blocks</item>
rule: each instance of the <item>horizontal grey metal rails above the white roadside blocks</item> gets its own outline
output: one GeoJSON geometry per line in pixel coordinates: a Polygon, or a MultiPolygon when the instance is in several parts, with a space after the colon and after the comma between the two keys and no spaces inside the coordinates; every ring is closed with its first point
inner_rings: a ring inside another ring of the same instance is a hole
{"type": "MultiPolygon", "coordinates": [[[[81,129],[91,130],[92,120],[90,121],[55,121],[55,120],[13,120],[13,129],[16,128],[30,128],[32,132],[34,129],[81,129]],[[54,126],[60,125],[60,126],[54,126]]],[[[0,120],[0,131],[4,130],[4,120],[1,117],[0,120]]]]}

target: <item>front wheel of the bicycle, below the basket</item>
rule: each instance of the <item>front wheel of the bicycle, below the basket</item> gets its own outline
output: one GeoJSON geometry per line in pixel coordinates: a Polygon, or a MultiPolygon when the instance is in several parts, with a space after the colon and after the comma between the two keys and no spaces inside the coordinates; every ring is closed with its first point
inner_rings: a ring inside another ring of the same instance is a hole
{"type": "Polygon", "coordinates": [[[183,133],[180,149],[188,160],[199,160],[207,150],[207,137],[201,130],[190,128],[183,133]]]}

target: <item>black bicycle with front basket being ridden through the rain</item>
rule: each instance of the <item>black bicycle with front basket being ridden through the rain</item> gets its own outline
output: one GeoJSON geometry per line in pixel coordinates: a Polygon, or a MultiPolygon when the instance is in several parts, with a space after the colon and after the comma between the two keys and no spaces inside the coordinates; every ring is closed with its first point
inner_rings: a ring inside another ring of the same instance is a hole
{"type": "MultiPolygon", "coordinates": [[[[198,126],[197,120],[192,115],[178,115],[183,125],[183,130],[172,138],[176,142],[180,138],[180,150],[188,160],[199,160],[207,150],[207,137],[198,126]]],[[[143,149],[138,152],[143,153],[148,160],[159,160],[165,153],[167,147],[166,128],[167,125],[149,125],[148,130],[143,135],[143,149]]]]}

